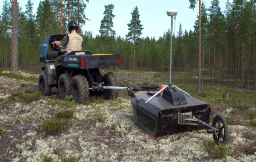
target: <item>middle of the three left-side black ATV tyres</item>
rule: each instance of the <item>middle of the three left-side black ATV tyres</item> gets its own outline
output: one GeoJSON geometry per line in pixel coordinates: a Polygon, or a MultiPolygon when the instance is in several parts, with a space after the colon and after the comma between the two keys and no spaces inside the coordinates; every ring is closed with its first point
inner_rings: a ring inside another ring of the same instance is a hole
{"type": "Polygon", "coordinates": [[[72,79],[72,76],[68,73],[64,73],[60,75],[60,78],[58,80],[58,93],[61,99],[63,99],[65,95],[70,95],[71,79],[72,79]]]}

